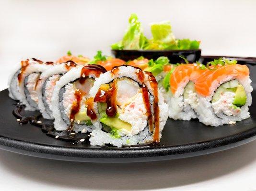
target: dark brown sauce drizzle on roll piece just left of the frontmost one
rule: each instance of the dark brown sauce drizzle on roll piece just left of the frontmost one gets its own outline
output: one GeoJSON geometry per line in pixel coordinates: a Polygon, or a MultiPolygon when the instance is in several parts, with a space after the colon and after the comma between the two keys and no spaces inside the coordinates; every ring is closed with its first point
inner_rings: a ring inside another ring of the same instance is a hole
{"type": "MultiPolygon", "coordinates": [[[[106,70],[104,67],[100,66],[100,65],[86,65],[84,67],[82,67],[81,69],[81,74],[80,74],[80,79],[79,79],[79,83],[82,85],[84,84],[86,78],[90,75],[90,74],[94,74],[96,77],[99,77],[100,74],[105,73],[106,70]]],[[[71,121],[71,126],[70,128],[72,128],[72,124],[73,121],[75,119],[75,115],[79,112],[80,110],[80,103],[82,100],[82,96],[85,94],[86,92],[82,92],[79,89],[76,89],[75,91],[75,98],[76,98],[76,102],[73,103],[72,107],[71,107],[71,113],[70,113],[70,121],[71,121]]],[[[87,101],[87,115],[91,118],[91,119],[96,119],[95,117],[96,114],[93,110],[93,102],[91,102],[90,100],[87,101]]]]}

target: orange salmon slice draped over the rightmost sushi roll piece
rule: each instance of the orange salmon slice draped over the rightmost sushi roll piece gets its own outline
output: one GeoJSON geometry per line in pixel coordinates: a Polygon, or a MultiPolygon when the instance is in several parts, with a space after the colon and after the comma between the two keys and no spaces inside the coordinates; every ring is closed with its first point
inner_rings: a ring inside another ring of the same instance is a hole
{"type": "Polygon", "coordinates": [[[227,76],[242,79],[249,76],[249,68],[246,65],[232,64],[218,66],[216,70],[206,69],[195,83],[195,89],[202,96],[209,96],[215,90],[215,85],[225,80],[227,76]]]}

